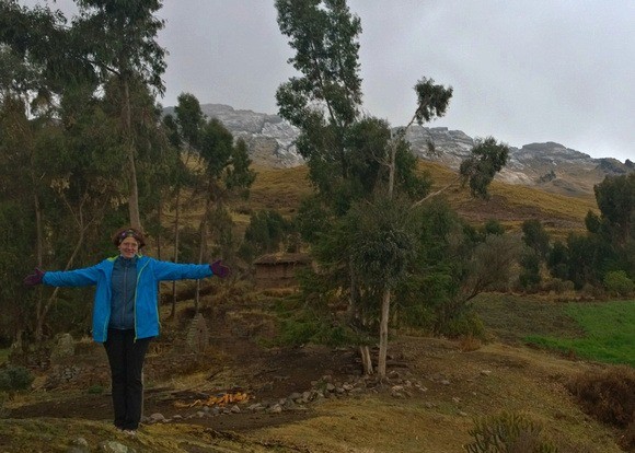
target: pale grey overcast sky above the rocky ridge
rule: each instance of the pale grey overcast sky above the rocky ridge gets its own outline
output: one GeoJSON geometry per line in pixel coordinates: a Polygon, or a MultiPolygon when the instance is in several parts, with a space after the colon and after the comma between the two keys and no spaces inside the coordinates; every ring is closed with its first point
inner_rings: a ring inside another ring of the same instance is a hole
{"type": "MultiPolygon", "coordinates": [[[[69,0],[66,0],[69,1],[69,0]]],[[[64,4],[58,2],[58,4],[64,4]]],[[[593,158],[635,160],[635,1],[348,0],[361,19],[363,109],[406,124],[415,83],[454,90],[429,127],[512,147],[555,141],[593,158]]],[[[201,104],[276,114],[295,76],[274,0],[164,0],[170,53],[164,106],[201,104]]]]}

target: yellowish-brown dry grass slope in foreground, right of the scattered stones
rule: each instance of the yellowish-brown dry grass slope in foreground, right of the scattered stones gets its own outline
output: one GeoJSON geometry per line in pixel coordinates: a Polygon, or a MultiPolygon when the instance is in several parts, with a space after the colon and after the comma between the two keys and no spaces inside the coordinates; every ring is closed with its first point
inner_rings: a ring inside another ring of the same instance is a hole
{"type": "Polygon", "coordinates": [[[621,451],[611,430],[585,416],[562,384],[592,365],[503,345],[473,352],[442,345],[424,341],[423,349],[411,351],[419,358],[423,393],[328,400],[316,407],[315,417],[249,437],[305,445],[313,453],[453,453],[471,442],[477,418],[513,411],[543,426],[544,438],[563,453],[621,451]],[[449,384],[436,382],[438,376],[449,384]]]}

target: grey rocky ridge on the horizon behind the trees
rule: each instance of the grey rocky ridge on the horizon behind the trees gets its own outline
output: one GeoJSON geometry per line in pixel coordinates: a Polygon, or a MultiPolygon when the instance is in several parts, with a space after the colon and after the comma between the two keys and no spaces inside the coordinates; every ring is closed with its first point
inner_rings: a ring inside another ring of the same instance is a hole
{"type": "MultiPolygon", "coordinates": [[[[203,104],[201,109],[210,118],[220,120],[236,138],[249,146],[254,163],[270,167],[292,167],[303,164],[293,141],[298,129],[278,115],[234,109],[223,104],[203,104]]],[[[164,113],[173,113],[168,107],[164,113]]],[[[413,151],[422,159],[440,162],[457,170],[469,155],[474,138],[461,130],[446,127],[413,126],[406,136],[413,151]],[[428,153],[428,142],[434,143],[434,155],[428,153]]],[[[510,147],[510,160],[498,179],[510,184],[535,186],[550,193],[568,196],[588,196],[593,186],[607,176],[635,171],[631,161],[593,159],[563,144],[547,141],[528,143],[518,149],[510,147]]]]}

